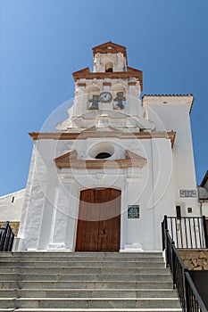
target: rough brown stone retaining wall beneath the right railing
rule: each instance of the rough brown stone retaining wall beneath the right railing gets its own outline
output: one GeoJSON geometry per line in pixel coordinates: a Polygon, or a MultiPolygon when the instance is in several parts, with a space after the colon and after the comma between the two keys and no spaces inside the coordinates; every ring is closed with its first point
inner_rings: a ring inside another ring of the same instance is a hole
{"type": "Polygon", "coordinates": [[[179,250],[179,255],[189,270],[208,270],[208,250],[179,250]]]}

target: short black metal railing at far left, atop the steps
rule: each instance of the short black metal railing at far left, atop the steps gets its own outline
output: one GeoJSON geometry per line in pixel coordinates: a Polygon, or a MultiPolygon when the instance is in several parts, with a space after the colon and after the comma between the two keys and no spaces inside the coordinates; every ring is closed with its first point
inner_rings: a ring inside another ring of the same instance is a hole
{"type": "Polygon", "coordinates": [[[0,228],[0,251],[12,251],[14,234],[8,221],[0,228]]]}

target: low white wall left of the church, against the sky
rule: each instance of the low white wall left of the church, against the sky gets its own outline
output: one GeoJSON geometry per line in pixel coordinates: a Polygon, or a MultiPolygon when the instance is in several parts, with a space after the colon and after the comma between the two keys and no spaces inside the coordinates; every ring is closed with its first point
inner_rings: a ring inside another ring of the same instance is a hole
{"type": "Polygon", "coordinates": [[[0,197],[0,221],[20,221],[25,189],[0,197]]]}

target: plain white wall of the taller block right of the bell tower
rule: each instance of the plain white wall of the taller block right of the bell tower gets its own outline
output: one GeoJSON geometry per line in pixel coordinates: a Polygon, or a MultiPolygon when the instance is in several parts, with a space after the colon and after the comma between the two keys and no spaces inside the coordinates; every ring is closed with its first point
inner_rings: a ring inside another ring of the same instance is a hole
{"type": "MultiPolygon", "coordinates": [[[[174,101],[176,102],[176,100],[174,101]]],[[[179,197],[179,190],[196,190],[196,173],[189,117],[190,107],[183,96],[181,96],[180,102],[178,100],[178,103],[174,103],[174,101],[164,104],[159,96],[155,99],[154,96],[151,99],[147,96],[145,99],[146,114],[149,119],[154,121],[158,131],[173,130],[176,132],[173,147],[175,203],[181,206],[182,216],[199,216],[200,206],[197,196],[195,198],[179,197]],[[193,209],[193,213],[187,213],[188,207],[193,209]]]]}

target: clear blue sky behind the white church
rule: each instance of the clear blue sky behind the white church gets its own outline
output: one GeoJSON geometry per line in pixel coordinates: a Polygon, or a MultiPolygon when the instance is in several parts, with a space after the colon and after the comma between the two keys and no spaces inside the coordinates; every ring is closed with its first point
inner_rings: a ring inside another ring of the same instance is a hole
{"type": "Polygon", "coordinates": [[[73,96],[73,71],[92,68],[95,45],[128,48],[143,94],[194,94],[200,183],[208,168],[207,0],[0,0],[0,195],[26,186],[33,142],[48,115],[73,96]]]}

